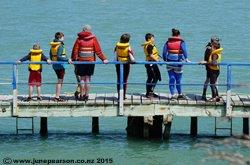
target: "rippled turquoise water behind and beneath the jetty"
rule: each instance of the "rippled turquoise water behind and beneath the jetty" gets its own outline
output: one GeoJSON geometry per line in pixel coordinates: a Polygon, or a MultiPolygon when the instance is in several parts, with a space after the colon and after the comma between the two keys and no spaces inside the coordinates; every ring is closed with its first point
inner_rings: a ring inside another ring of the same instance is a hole
{"type": "MultiPolygon", "coordinates": [[[[65,44],[70,55],[76,34],[84,24],[90,24],[100,40],[103,52],[113,60],[113,47],[122,33],[131,34],[131,45],[136,59],[143,60],[140,44],[147,32],[155,34],[156,44],[162,51],[163,44],[170,35],[171,29],[177,27],[188,45],[189,59],[200,61],[204,47],[213,35],[222,39],[224,47],[223,61],[247,62],[250,60],[250,2],[240,1],[115,1],[115,0],[56,0],[56,1],[4,1],[0,0],[0,60],[18,60],[27,54],[31,46],[38,42],[45,55],[49,53],[49,42],[54,33],[65,34],[65,44]]],[[[168,77],[164,66],[160,67],[163,81],[168,77]]],[[[233,82],[246,84],[250,72],[247,67],[233,68],[233,82]]],[[[19,82],[26,83],[27,66],[19,65],[19,82]]],[[[11,67],[0,66],[0,83],[11,82],[11,67]]],[[[183,83],[203,83],[202,66],[185,66],[183,83]]],[[[129,82],[145,82],[144,66],[134,65],[131,68],[129,82]]],[[[116,81],[112,65],[96,66],[93,82],[116,81]]],[[[56,76],[51,66],[43,66],[43,82],[54,83],[56,76]]],[[[73,67],[66,71],[65,82],[75,82],[73,67]]],[[[220,83],[226,82],[226,70],[222,68],[220,83]]],[[[72,93],[75,85],[65,85],[63,93],[72,93]]],[[[185,93],[200,93],[202,87],[183,87],[185,93]]],[[[54,85],[43,85],[43,93],[53,93],[54,85]]],[[[93,85],[92,92],[115,91],[114,85],[106,87],[93,85]]],[[[225,92],[224,87],[219,88],[225,92]]],[[[167,86],[158,86],[156,91],[168,93],[167,86]]],[[[10,94],[11,86],[0,85],[1,94],[10,94]]],[[[128,92],[144,92],[144,86],[129,85],[128,92]]],[[[247,88],[234,88],[233,92],[249,92],[247,88]]],[[[19,93],[27,93],[27,85],[19,85],[19,93]]],[[[207,138],[213,135],[213,119],[200,119],[197,139],[188,135],[189,119],[176,118],[173,123],[173,136],[169,142],[159,140],[137,140],[126,137],[125,118],[101,118],[100,135],[90,134],[89,118],[50,118],[49,136],[39,136],[39,119],[35,121],[35,135],[15,136],[15,120],[0,120],[0,158],[68,158],[96,159],[112,158],[114,164],[228,164],[228,162],[205,158],[207,148],[195,147],[200,143],[210,144],[219,151],[239,152],[250,157],[249,148],[232,144],[224,145],[224,139],[207,138]]],[[[241,120],[234,120],[234,134],[241,133],[241,120]]],[[[23,123],[28,126],[28,123],[23,123]]],[[[225,132],[223,135],[228,135],[225,132]]],[[[233,141],[233,139],[232,139],[233,141]]],[[[1,160],[0,160],[1,161],[1,160]]]]}

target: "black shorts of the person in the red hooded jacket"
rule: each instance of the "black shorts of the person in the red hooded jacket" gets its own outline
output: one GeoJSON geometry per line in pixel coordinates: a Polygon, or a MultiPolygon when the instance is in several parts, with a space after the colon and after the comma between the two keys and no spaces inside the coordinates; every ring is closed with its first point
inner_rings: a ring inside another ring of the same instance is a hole
{"type": "Polygon", "coordinates": [[[94,74],[95,64],[78,64],[76,65],[76,75],[92,76],[94,74]]]}

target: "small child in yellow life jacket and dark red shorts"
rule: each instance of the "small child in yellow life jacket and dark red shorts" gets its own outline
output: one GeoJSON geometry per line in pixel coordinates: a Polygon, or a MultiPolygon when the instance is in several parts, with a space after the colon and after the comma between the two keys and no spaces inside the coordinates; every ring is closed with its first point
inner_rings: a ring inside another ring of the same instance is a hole
{"type": "MultiPolygon", "coordinates": [[[[50,63],[50,60],[43,54],[42,49],[39,44],[34,44],[33,49],[30,49],[30,52],[25,57],[21,58],[18,63],[23,61],[31,61],[31,62],[40,62],[47,61],[50,63]]],[[[32,93],[34,86],[37,87],[37,100],[41,101],[41,82],[42,82],[42,65],[41,64],[29,64],[29,96],[25,101],[32,100],[32,93]]]]}

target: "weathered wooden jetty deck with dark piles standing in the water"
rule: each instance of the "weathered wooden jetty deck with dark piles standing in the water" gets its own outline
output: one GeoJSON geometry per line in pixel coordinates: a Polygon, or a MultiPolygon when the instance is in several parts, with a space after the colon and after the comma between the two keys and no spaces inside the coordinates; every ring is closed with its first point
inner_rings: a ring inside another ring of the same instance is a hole
{"type": "Polygon", "coordinates": [[[65,102],[55,102],[53,95],[43,95],[42,101],[34,98],[25,102],[25,96],[18,96],[15,100],[12,95],[2,95],[0,117],[40,117],[40,133],[47,134],[48,117],[92,117],[92,132],[98,133],[99,117],[124,116],[128,117],[128,136],[150,138],[163,135],[165,139],[170,136],[175,116],[191,117],[192,136],[198,132],[197,117],[240,117],[243,118],[243,134],[249,135],[250,95],[231,94],[230,109],[227,109],[226,94],[221,95],[220,102],[204,101],[200,95],[195,94],[186,96],[187,99],[170,99],[168,94],[159,93],[158,98],[149,99],[145,94],[134,93],[128,94],[127,99],[121,101],[116,93],[105,93],[90,94],[86,102],[77,101],[72,95],[63,95],[65,102]]]}

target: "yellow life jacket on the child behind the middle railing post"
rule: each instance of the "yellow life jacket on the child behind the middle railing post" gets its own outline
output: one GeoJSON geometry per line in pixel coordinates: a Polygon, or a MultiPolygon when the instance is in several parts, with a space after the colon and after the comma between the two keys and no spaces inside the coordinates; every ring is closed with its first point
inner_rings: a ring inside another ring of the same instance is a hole
{"type": "Polygon", "coordinates": [[[129,61],[129,43],[117,42],[115,50],[116,50],[118,61],[120,62],[129,61]]]}

